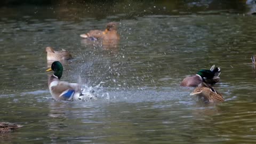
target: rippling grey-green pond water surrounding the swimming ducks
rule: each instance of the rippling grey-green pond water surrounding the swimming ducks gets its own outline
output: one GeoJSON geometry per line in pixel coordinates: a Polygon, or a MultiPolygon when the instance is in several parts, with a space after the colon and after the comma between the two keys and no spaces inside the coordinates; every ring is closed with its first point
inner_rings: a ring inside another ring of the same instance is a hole
{"type": "Polygon", "coordinates": [[[244,1],[150,1],[4,5],[0,9],[0,121],[24,125],[1,143],[255,143],[256,19],[244,1]],[[109,8],[109,9],[106,9],[109,8]],[[86,43],[118,23],[115,49],[86,43]],[[57,102],[45,47],[71,51],[63,81],[98,100],[57,102]],[[180,87],[221,67],[225,102],[205,105],[180,87]]]}

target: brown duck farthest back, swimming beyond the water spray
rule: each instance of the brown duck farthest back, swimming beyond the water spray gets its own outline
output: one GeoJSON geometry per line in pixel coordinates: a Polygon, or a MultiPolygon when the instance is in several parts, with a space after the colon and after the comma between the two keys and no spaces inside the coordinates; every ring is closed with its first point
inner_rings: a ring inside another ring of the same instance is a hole
{"type": "Polygon", "coordinates": [[[89,39],[91,41],[97,41],[98,39],[103,39],[103,41],[119,40],[115,22],[107,23],[106,29],[104,31],[90,30],[86,34],[81,34],[80,37],[89,39]]]}

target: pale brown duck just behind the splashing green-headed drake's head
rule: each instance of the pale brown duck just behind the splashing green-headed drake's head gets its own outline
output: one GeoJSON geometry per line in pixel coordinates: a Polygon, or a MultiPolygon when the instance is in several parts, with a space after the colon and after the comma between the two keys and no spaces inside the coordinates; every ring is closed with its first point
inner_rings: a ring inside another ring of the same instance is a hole
{"type": "Polygon", "coordinates": [[[70,52],[62,49],[61,51],[54,51],[52,47],[48,46],[45,48],[47,52],[47,61],[62,61],[72,59],[70,52]]]}

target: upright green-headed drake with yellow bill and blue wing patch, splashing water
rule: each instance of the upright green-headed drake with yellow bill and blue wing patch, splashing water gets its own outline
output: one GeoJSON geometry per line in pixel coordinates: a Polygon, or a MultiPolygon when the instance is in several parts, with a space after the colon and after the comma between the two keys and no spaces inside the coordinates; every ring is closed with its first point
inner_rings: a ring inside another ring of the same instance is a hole
{"type": "Polygon", "coordinates": [[[46,71],[54,71],[48,80],[48,87],[52,97],[55,100],[69,100],[79,99],[82,94],[81,86],[77,83],[68,83],[60,81],[63,67],[59,61],[54,61],[51,68],[46,71]]]}

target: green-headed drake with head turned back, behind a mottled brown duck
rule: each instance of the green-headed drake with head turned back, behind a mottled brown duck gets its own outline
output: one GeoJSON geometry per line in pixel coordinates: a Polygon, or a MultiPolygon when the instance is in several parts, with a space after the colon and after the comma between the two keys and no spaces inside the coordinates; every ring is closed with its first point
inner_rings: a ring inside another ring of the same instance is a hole
{"type": "Polygon", "coordinates": [[[184,78],[180,84],[180,86],[193,86],[196,87],[203,82],[203,79],[206,83],[215,84],[219,82],[220,78],[220,68],[216,67],[215,65],[211,67],[210,70],[208,69],[201,69],[197,72],[196,75],[191,75],[184,78]]]}

